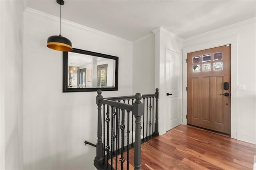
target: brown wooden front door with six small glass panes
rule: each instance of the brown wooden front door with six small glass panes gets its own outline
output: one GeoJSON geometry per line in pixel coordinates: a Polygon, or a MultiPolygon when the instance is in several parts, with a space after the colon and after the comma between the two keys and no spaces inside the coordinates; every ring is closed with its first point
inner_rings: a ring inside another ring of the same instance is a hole
{"type": "Polygon", "coordinates": [[[188,124],[230,134],[230,50],[188,53],[188,124]]]}

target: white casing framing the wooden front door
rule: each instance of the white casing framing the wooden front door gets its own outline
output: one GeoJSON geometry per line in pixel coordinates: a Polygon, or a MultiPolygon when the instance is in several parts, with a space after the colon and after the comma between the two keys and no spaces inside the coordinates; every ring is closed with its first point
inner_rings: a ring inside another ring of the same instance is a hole
{"type": "Polygon", "coordinates": [[[210,41],[207,43],[203,43],[203,44],[198,44],[198,45],[193,45],[190,47],[186,47],[184,49],[182,49],[182,60],[184,62],[183,66],[182,66],[182,72],[183,72],[183,76],[182,76],[182,98],[183,98],[183,102],[182,102],[182,123],[183,125],[187,125],[187,119],[186,119],[186,115],[187,115],[187,91],[186,91],[186,87],[187,87],[187,63],[186,63],[186,59],[187,59],[187,54],[194,52],[194,51],[200,51],[200,50],[205,50],[205,49],[210,49],[210,48],[214,48],[214,47],[220,47],[223,45],[228,45],[231,44],[231,111],[230,111],[230,123],[231,123],[231,137],[236,139],[237,138],[237,43],[238,43],[238,36],[234,36],[234,37],[227,37],[224,39],[218,39],[216,41],[210,41]]]}

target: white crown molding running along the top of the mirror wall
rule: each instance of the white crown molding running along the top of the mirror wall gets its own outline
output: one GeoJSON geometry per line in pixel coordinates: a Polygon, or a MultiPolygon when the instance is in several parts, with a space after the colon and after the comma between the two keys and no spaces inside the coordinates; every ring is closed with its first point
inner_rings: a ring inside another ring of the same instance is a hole
{"type": "MultiPolygon", "coordinates": [[[[50,14],[47,14],[45,12],[41,12],[41,11],[38,11],[38,10],[34,10],[32,8],[26,8],[26,10],[24,11],[24,14],[36,16],[36,17],[43,18],[45,20],[50,20],[50,21],[59,21],[60,20],[59,17],[52,16],[50,14]]],[[[65,19],[61,19],[61,21],[62,21],[62,24],[65,24],[65,25],[68,25],[68,26],[77,27],[77,28],[83,29],[85,31],[91,31],[91,32],[94,32],[94,33],[105,35],[105,36],[108,36],[108,37],[111,37],[111,38],[114,38],[114,39],[118,39],[120,41],[124,41],[126,43],[132,44],[132,41],[129,41],[127,39],[116,37],[114,35],[111,35],[111,34],[108,34],[108,33],[102,32],[102,31],[98,31],[97,29],[86,27],[86,26],[81,25],[79,23],[75,23],[75,22],[72,22],[72,21],[69,21],[69,20],[65,20],[65,19]]]]}

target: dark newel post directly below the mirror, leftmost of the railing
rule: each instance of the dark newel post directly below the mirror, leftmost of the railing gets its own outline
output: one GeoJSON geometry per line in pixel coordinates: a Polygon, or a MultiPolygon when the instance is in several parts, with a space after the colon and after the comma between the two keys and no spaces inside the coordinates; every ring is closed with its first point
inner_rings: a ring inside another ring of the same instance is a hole
{"type": "Polygon", "coordinates": [[[103,162],[103,143],[102,143],[102,122],[101,122],[101,106],[100,99],[103,99],[101,95],[102,91],[97,91],[96,104],[98,106],[98,130],[97,130],[97,144],[96,144],[96,157],[94,159],[94,164],[101,164],[103,162]]]}

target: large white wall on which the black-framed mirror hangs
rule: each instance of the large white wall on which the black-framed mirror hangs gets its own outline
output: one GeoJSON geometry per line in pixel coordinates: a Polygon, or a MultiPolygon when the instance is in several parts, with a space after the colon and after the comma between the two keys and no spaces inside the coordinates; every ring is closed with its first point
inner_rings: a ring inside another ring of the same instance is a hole
{"type": "MultiPolygon", "coordinates": [[[[62,52],[46,47],[47,38],[58,35],[58,29],[58,18],[25,11],[24,169],[94,169],[96,148],[84,141],[97,141],[96,92],[62,93],[62,52]]],[[[130,41],[65,20],[62,35],[74,48],[118,56],[118,91],[102,95],[132,95],[130,41]]]]}

